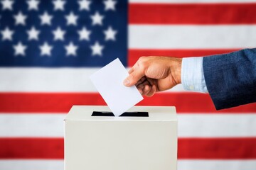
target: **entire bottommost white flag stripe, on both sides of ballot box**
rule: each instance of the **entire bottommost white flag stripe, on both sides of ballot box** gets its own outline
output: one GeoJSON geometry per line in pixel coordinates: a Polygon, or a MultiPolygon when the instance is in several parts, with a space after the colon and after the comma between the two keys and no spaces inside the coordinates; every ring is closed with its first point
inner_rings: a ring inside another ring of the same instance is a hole
{"type": "MultiPolygon", "coordinates": [[[[63,160],[0,160],[3,170],[63,170],[63,160]]],[[[178,170],[252,170],[256,160],[178,160],[178,170]]]]}

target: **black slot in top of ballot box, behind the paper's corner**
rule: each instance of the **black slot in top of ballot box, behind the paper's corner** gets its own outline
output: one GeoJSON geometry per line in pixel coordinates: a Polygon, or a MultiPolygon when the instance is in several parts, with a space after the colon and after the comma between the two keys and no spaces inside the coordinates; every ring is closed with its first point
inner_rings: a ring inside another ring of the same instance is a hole
{"type": "MultiPolygon", "coordinates": [[[[93,111],[92,116],[114,116],[112,112],[93,111]]],[[[149,117],[149,112],[124,112],[120,117],[149,117]]]]}

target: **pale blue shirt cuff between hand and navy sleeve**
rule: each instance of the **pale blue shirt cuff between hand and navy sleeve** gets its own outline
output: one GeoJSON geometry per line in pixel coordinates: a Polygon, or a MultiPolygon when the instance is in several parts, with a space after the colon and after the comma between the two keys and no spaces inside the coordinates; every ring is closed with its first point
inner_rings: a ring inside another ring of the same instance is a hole
{"type": "Polygon", "coordinates": [[[203,75],[203,57],[182,59],[181,84],[185,90],[208,93],[203,75]]]}

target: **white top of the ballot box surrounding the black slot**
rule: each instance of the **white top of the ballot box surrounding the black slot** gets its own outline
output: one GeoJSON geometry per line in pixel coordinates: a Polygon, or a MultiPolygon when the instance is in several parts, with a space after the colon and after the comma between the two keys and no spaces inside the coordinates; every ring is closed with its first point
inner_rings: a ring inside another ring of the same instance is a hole
{"type": "Polygon", "coordinates": [[[92,116],[94,111],[111,112],[107,106],[73,106],[65,120],[157,120],[177,121],[176,108],[174,106],[134,106],[127,112],[148,112],[148,117],[116,117],[116,116],[92,116]]]}

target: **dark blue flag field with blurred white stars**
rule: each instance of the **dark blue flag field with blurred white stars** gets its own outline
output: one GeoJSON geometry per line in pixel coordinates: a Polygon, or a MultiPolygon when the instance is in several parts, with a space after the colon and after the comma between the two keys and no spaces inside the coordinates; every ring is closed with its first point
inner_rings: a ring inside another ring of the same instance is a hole
{"type": "Polygon", "coordinates": [[[0,2],[0,67],[127,66],[127,0],[0,2]]]}

